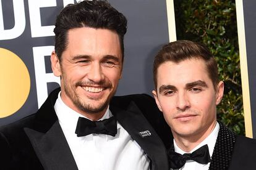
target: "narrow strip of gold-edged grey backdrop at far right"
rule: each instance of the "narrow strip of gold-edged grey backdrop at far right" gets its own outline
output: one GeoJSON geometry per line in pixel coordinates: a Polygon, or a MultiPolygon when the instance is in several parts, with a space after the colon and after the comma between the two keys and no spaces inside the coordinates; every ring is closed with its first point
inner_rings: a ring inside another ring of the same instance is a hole
{"type": "Polygon", "coordinates": [[[245,133],[256,139],[256,1],[236,0],[245,133]]]}

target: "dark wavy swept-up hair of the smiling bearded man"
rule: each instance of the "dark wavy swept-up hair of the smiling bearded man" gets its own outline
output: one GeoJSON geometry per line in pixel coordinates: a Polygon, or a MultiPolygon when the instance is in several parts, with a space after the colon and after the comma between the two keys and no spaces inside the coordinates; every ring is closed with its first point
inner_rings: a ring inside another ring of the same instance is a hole
{"type": "Polygon", "coordinates": [[[73,28],[103,28],[115,31],[119,36],[124,60],[124,34],[127,30],[127,20],[123,14],[114,9],[107,1],[82,1],[69,4],[56,18],[55,52],[61,60],[62,52],[67,47],[67,32],[73,28]]]}

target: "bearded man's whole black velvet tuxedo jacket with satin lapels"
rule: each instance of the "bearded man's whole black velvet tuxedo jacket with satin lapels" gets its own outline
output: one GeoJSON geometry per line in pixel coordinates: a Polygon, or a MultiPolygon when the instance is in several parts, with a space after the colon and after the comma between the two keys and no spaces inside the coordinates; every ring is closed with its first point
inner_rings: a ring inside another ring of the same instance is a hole
{"type": "MultiPolygon", "coordinates": [[[[77,169],[54,111],[59,90],[35,114],[0,128],[0,169],[77,169]]],[[[168,169],[164,144],[173,139],[155,100],[145,94],[113,97],[109,108],[147,153],[151,169],[168,169]],[[143,131],[150,136],[142,137],[143,131]]]]}

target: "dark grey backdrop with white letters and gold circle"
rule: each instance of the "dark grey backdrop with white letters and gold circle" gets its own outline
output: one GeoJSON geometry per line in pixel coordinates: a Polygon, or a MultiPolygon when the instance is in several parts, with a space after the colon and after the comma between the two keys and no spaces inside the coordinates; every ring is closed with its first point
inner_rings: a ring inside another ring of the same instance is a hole
{"type": "MultiPolygon", "coordinates": [[[[0,1],[0,126],[34,113],[59,86],[49,56],[54,49],[54,22],[64,6],[76,2],[0,1]]],[[[155,0],[109,2],[128,20],[123,75],[116,95],[151,94],[153,57],[169,42],[167,9],[172,12],[173,7],[155,0]]]]}

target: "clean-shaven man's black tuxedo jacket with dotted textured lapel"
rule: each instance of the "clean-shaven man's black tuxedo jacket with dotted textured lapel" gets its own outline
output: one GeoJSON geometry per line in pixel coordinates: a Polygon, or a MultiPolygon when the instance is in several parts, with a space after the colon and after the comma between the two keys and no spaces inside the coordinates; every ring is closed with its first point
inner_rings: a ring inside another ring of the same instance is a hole
{"type": "Polygon", "coordinates": [[[256,169],[256,140],[237,136],[222,123],[209,169],[256,169]]]}

